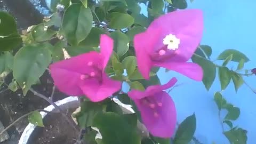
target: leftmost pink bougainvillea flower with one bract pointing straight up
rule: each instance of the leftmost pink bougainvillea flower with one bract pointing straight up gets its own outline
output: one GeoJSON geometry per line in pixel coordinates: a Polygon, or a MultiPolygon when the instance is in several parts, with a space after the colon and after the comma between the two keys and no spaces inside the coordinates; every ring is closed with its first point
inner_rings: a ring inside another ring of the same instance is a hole
{"type": "Polygon", "coordinates": [[[100,36],[100,53],[91,51],[50,65],[54,84],[69,95],[86,95],[91,101],[101,101],[121,89],[122,83],[105,73],[113,51],[113,39],[100,36]]]}

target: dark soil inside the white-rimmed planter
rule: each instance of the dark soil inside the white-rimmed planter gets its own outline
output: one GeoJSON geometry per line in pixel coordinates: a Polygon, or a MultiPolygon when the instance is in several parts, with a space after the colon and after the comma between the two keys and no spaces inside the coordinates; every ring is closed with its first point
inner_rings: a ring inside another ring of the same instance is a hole
{"type": "MultiPolygon", "coordinates": [[[[67,110],[67,115],[75,109],[67,110]]],[[[74,129],[68,124],[61,114],[49,114],[44,118],[45,127],[37,127],[35,133],[31,135],[28,144],[73,144],[78,135],[75,135],[74,129]]]]}

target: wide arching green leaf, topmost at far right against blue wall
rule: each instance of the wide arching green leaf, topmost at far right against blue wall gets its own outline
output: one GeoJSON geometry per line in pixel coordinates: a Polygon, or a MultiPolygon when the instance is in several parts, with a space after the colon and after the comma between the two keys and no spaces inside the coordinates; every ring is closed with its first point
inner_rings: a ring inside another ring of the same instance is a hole
{"type": "Polygon", "coordinates": [[[225,60],[231,54],[233,54],[233,58],[232,58],[231,61],[239,62],[241,59],[244,59],[244,62],[248,62],[249,61],[249,58],[247,58],[247,56],[245,54],[243,54],[242,52],[239,52],[237,50],[233,50],[233,49],[227,49],[227,50],[223,51],[218,56],[217,59],[218,60],[225,60]]]}

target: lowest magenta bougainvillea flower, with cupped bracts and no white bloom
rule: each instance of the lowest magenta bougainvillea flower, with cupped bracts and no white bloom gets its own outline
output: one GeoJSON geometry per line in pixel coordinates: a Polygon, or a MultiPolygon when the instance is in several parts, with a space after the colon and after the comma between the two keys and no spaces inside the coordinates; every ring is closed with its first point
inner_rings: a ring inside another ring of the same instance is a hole
{"type": "Polygon", "coordinates": [[[145,91],[132,90],[129,97],[135,102],[141,113],[143,124],[155,137],[172,137],[177,115],[174,102],[170,95],[163,90],[169,89],[177,82],[172,78],[167,84],[153,85],[145,91]]]}

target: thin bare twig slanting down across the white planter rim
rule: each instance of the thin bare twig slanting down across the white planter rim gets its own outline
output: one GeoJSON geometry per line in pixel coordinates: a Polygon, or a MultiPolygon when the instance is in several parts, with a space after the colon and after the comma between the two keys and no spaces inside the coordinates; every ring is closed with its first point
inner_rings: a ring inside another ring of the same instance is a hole
{"type": "Polygon", "coordinates": [[[60,114],[65,117],[66,121],[74,128],[75,132],[78,134],[79,131],[76,127],[76,125],[74,124],[74,122],[72,122],[69,117],[64,113],[64,111],[59,107],[57,106],[52,100],[50,100],[49,98],[47,98],[45,95],[41,94],[41,93],[38,93],[36,92],[34,89],[30,88],[29,89],[31,92],[33,92],[36,96],[46,100],[47,102],[49,102],[52,106],[54,106],[55,109],[58,109],[60,111],[60,114]]]}

